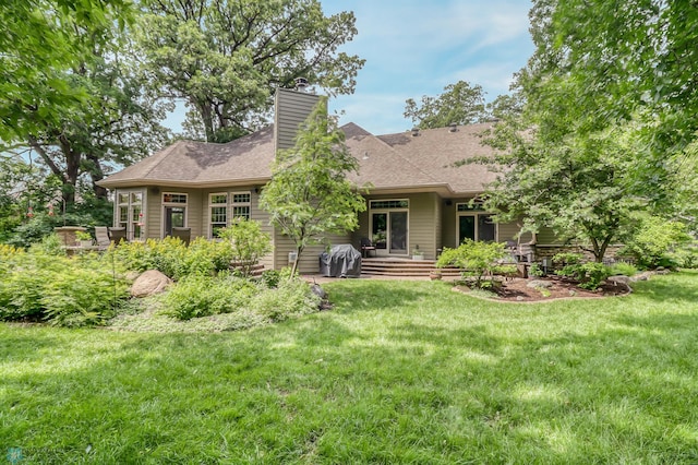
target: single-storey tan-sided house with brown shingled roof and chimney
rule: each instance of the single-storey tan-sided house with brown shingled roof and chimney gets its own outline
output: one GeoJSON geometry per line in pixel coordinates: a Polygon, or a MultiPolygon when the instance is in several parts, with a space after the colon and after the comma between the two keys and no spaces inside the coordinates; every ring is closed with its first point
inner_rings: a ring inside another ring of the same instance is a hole
{"type": "MultiPolygon", "coordinates": [[[[265,266],[288,265],[293,246],[269,225],[258,198],[272,177],[276,151],[293,145],[317,98],[279,90],[273,126],[225,144],[178,141],[104,179],[99,184],[115,193],[113,225],[125,228],[130,240],[163,238],[177,228],[189,228],[192,237],[214,238],[233,217],[256,219],[274,243],[265,266]]],[[[495,175],[478,164],[453,166],[491,153],[479,136],[490,126],[387,135],[374,135],[353,123],[344,126],[347,146],[360,164],[359,175],[350,180],[372,187],[364,195],[368,208],[360,214],[359,229],[330,238],[332,243],[358,248],[368,237],[377,255],[408,258],[419,248],[426,259],[435,259],[443,247],[457,247],[464,238],[516,240],[519,225],[495,224],[491,214],[471,202],[495,175]]],[[[317,253],[323,250],[323,246],[306,249],[301,272],[317,272],[317,253]]]]}

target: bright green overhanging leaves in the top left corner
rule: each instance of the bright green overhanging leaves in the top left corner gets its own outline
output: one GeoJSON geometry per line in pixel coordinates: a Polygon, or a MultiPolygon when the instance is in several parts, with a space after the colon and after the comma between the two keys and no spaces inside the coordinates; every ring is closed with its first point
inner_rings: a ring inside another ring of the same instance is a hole
{"type": "MultiPolygon", "coordinates": [[[[106,34],[123,27],[131,2],[5,0],[0,3],[0,140],[24,140],[34,116],[57,122],[89,98],[65,75],[106,34]]],[[[39,124],[40,126],[40,124],[39,124]]]]}

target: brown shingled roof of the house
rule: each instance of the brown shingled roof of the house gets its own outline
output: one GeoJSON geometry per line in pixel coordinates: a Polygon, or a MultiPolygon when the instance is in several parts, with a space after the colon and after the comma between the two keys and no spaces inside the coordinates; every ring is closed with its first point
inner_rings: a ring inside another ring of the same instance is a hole
{"type": "MultiPolygon", "coordinates": [[[[491,124],[472,124],[375,136],[354,123],[341,128],[347,146],[358,158],[358,184],[374,191],[438,191],[444,195],[480,192],[494,179],[481,165],[453,163],[488,155],[477,135],[491,124]]],[[[272,128],[227,144],[179,141],[100,182],[106,188],[136,186],[222,187],[264,183],[274,158],[272,128]]]]}

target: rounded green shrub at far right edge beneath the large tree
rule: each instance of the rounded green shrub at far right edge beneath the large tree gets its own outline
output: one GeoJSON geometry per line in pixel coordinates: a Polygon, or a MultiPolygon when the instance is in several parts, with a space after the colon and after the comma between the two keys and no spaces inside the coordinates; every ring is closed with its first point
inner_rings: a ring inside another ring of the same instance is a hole
{"type": "Polygon", "coordinates": [[[625,241],[621,253],[634,257],[642,269],[683,266],[683,255],[691,240],[685,224],[646,217],[625,241]]]}

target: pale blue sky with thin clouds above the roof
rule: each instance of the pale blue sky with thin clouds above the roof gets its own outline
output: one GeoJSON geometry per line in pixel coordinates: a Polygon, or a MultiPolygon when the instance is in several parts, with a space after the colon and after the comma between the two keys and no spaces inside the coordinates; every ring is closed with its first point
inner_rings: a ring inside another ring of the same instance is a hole
{"type": "MultiPolygon", "coordinates": [[[[321,0],[326,14],[353,11],[359,33],[341,51],[366,60],[352,95],[330,100],[340,123],[374,134],[406,131],[405,100],[435,96],[460,80],[492,100],[533,52],[530,0],[321,0]]],[[[177,128],[183,115],[168,126],[177,128]]]]}

